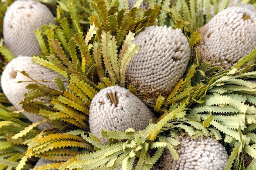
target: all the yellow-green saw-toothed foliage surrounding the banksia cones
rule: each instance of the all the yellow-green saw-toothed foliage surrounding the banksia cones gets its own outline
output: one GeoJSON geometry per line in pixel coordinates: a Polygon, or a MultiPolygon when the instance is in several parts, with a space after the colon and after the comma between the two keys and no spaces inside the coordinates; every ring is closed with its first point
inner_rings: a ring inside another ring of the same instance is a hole
{"type": "MultiPolygon", "coordinates": [[[[56,24],[35,30],[42,53],[31,60],[66,80],[56,77],[58,89],[53,89],[21,71],[35,83],[27,86],[22,108],[45,118],[33,124],[22,113],[11,113],[7,108],[11,104],[0,93],[0,169],[29,169],[38,158],[44,158],[57,162],[35,170],[111,170],[120,165],[124,170],[149,170],[164,148],[178,158],[180,134],[220,141],[229,151],[225,170],[255,169],[256,84],[250,79],[256,78],[252,71],[256,50],[234,68],[222,71],[221,67],[209,68],[208,62],[200,63],[194,49],[195,56],[171,94],[166,98],[160,95],[149,106],[155,112],[155,123],[149,122],[137,132],[131,128],[125,132],[102,130],[108,145],[89,133],[91,100],[107,86],[125,87],[127,65],[139,50],[133,40],[140,31],[150,25],[179,28],[192,47],[200,39],[197,29],[212,17],[211,5],[216,14],[227,7],[228,0],[222,1],[219,9],[218,0],[145,0],[149,6],[145,11],[139,8],[141,0],[132,9],[127,0],[41,2],[52,9],[56,24]],[[45,122],[55,128],[36,128],[45,122]],[[245,155],[252,158],[247,167],[245,155]]],[[[0,25],[11,0],[2,4],[0,25]]],[[[3,40],[0,53],[2,67],[13,58],[3,40]]],[[[134,87],[129,90],[136,95],[134,87]]]]}

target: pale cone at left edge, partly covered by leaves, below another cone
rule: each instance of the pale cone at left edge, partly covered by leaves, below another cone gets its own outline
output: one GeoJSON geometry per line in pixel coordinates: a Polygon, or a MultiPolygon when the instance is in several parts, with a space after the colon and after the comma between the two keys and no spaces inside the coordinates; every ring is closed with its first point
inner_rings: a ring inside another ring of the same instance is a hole
{"type": "MultiPolygon", "coordinates": [[[[58,73],[52,71],[49,68],[45,68],[43,66],[40,66],[38,64],[35,64],[31,61],[31,57],[27,56],[18,56],[11,60],[2,72],[1,77],[1,86],[4,94],[9,99],[11,104],[15,106],[18,110],[22,110],[21,105],[17,105],[19,102],[21,102],[24,99],[24,94],[27,93],[26,86],[28,84],[33,84],[34,82],[22,82],[17,83],[19,81],[31,81],[28,77],[20,73],[19,71],[25,71],[29,74],[33,79],[35,80],[45,80],[45,81],[52,81],[54,80],[58,73]]],[[[65,77],[63,77],[63,80],[67,81],[65,77]]],[[[51,88],[57,89],[56,83],[54,81],[52,82],[40,82],[42,84],[45,84],[51,88]]],[[[65,83],[65,86],[67,87],[68,84],[65,83]]],[[[32,122],[37,122],[40,120],[43,120],[45,118],[25,113],[24,115],[27,116],[27,118],[32,122]]],[[[53,127],[52,124],[40,124],[38,125],[38,128],[45,129],[45,128],[51,128],[53,127]]]]}

